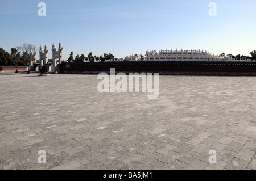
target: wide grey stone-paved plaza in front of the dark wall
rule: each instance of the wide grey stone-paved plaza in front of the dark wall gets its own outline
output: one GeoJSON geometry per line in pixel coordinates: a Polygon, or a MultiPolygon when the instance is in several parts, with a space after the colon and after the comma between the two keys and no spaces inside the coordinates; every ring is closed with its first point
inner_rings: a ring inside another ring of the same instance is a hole
{"type": "Polygon", "coordinates": [[[99,82],[0,73],[0,169],[256,169],[256,77],[159,76],[158,99],[99,82]]]}

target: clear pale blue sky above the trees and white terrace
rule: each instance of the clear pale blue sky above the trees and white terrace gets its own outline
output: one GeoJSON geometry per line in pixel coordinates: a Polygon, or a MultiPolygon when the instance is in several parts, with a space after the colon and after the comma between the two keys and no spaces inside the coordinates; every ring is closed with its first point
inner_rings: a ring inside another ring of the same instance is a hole
{"type": "Polygon", "coordinates": [[[176,48],[247,56],[256,49],[255,7],[253,0],[0,0],[0,47],[47,44],[51,58],[61,41],[64,60],[71,51],[122,58],[176,48]],[[209,16],[210,2],[217,16],[209,16]]]}

